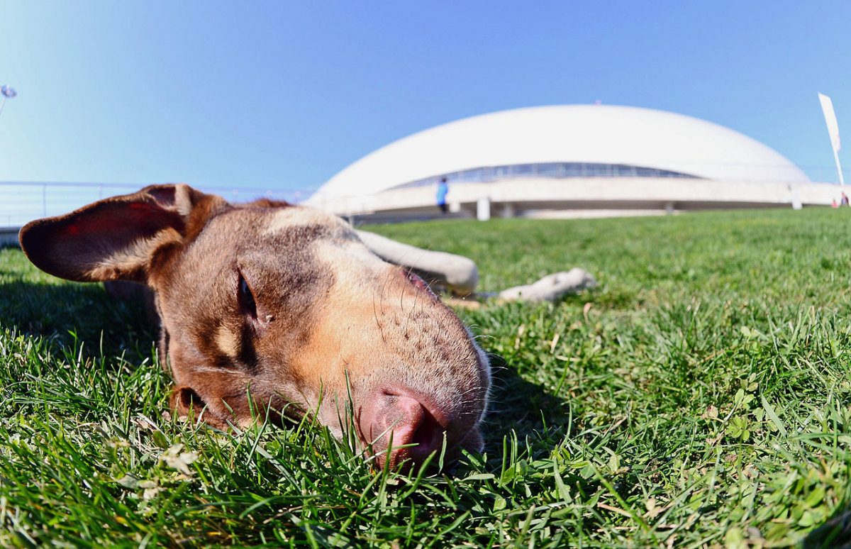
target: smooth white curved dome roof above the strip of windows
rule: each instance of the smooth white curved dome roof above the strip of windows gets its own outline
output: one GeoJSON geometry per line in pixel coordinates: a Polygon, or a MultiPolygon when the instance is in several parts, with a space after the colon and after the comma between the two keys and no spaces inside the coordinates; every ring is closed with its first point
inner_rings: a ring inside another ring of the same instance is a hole
{"type": "Polygon", "coordinates": [[[780,153],[705,120],[631,106],[563,105],[426,129],[352,163],[314,196],[363,196],[437,175],[527,163],[622,164],[709,180],[809,181],[780,153]]]}

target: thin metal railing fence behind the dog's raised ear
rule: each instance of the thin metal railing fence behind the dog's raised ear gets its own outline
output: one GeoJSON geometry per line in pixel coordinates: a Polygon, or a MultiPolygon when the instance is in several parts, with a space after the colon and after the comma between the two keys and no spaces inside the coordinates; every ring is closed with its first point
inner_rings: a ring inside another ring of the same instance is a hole
{"type": "MultiPolygon", "coordinates": [[[[28,221],[50,215],[66,214],[101,198],[138,191],[142,185],[124,183],[31,183],[0,181],[0,226],[22,226],[28,221]]],[[[256,198],[297,203],[309,197],[311,190],[230,188],[197,186],[231,202],[249,202],[256,198]]]]}

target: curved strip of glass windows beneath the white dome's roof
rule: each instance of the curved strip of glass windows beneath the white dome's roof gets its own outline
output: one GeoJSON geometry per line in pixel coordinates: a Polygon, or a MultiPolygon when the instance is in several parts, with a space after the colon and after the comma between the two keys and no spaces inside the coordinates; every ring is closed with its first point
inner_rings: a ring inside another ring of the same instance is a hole
{"type": "Polygon", "coordinates": [[[444,177],[449,184],[488,183],[489,181],[513,179],[517,177],[550,177],[563,179],[570,177],[679,177],[702,179],[696,175],[673,172],[668,169],[643,168],[641,166],[630,166],[627,164],[548,162],[465,169],[460,172],[433,175],[426,179],[410,181],[392,188],[407,189],[410,187],[435,185],[444,177]]]}

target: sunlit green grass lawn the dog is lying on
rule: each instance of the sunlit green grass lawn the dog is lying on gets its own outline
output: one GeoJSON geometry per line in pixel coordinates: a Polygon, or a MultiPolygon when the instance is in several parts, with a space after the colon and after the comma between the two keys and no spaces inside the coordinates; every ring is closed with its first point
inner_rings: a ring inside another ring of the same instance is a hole
{"type": "Polygon", "coordinates": [[[0,545],[851,546],[851,211],[369,227],[481,288],[482,456],[375,474],[322,429],[168,410],[138,312],[0,251],[0,545]]]}

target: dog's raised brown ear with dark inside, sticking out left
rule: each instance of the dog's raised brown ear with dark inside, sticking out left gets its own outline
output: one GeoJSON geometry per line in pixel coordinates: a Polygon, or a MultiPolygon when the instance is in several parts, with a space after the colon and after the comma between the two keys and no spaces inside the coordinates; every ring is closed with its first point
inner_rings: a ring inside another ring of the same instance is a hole
{"type": "Polygon", "coordinates": [[[188,185],[147,186],[70,214],[35,220],[20,247],[35,266],[78,282],[145,283],[154,252],[194,237],[225,200],[188,185]]]}

